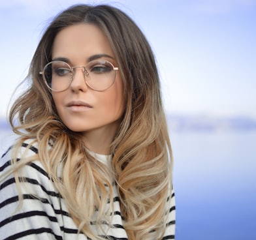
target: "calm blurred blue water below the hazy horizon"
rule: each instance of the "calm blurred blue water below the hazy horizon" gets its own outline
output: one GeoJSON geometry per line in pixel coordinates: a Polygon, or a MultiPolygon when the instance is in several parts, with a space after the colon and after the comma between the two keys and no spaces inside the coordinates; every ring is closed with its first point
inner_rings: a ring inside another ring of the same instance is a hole
{"type": "MultiPolygon", "coordinates": [[[[12,142],[0,129],[0,155],[12,142]]],[[[256,239],[256,131],[171,132],[177,240],[256,239]]]]}

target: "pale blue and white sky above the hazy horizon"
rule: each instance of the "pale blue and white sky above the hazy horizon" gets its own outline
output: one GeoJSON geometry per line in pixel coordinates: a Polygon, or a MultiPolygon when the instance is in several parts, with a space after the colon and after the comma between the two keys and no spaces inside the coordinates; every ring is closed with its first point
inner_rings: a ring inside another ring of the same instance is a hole
{"type": "Polygon", "coordinates": [[[256,118],[256,0],[12,0],[0,3],[0,117],[42,33],[75,3],[125,11],[148,38],[167,113],[256,118]]]}

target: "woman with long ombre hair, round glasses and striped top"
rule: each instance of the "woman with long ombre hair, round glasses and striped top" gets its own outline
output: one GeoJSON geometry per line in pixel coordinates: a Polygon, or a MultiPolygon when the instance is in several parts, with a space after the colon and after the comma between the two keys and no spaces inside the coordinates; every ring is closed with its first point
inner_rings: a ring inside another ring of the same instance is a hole
{"type": "Polygon", "coordinates": [[[174,239],[159,76],[135,23],[106,5],[68,8],[27,81],[0,164],[1,239],[174,239]]]}

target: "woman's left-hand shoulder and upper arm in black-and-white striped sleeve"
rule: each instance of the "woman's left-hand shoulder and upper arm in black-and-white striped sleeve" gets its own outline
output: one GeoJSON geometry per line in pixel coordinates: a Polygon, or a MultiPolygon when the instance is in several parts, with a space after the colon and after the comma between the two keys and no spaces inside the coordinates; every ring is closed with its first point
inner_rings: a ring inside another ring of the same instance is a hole
{"type": "Polygon", "coordinates": [[[0,235],[4,239],[63,235],[59,226],[63,215],[69,214],[37,153],[37,143],[27,140],[9,147],[1,157],[0,235]]]}

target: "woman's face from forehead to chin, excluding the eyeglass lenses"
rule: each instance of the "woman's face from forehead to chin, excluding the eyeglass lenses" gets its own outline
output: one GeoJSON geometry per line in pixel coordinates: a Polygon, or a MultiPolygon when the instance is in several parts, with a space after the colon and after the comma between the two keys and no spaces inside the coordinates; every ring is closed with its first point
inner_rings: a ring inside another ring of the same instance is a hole
{"type": "MultiPolygon", "coordinates": [[[[78,23],[61,30],[54,39],[52,59],[65,59],[71,67],[85,66],[91,59],[104,59],[118,67],[110,42],[95,25],[78,23]]],[[[123,82],[116,70],[114,84],[105,91],[86,85],[82,68],[75,68],[68,89],[52,91],[57,113],[74,132],[114,136],[124,111],[123,82]]]]}

